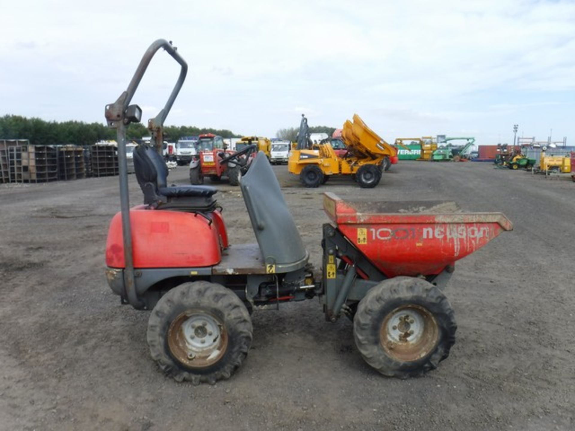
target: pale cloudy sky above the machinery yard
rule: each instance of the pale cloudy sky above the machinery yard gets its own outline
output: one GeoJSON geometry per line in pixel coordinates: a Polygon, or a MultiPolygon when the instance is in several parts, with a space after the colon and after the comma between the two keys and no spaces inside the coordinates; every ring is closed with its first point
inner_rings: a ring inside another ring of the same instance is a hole
{"type": "MultiPolygon", "coordinates": [[[[496,144],[519,124],[519,135],[546,140],[553,128],[575,145],[573,1],[83,3],[3,2],[0,115],[104,122],[163,38],[189,64],[167,124],[275,136],[302,113],[337,127],[358,113],[388,141],[496,144]]],[[[178,72],[156,55],[133,99],[146,120],[178,72]]]]}

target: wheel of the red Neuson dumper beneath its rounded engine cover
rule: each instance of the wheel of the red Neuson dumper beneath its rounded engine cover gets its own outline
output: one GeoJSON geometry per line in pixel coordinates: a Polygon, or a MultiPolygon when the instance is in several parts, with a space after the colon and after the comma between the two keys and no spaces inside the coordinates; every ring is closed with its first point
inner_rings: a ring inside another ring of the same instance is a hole
{"type": "Polygon", "coordinates": [[[183,283],[168,291],[148,321],[150,353],[178,382],[229,379],[250,349],[253,329],[246,306],[228,288],[183,283]]]}

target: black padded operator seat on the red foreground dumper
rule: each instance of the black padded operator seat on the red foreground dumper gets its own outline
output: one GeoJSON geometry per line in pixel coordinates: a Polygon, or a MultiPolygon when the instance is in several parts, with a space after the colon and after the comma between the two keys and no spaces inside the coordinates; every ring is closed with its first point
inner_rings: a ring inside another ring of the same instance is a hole
{"type": "Polygon", "coordinates": [[[150,145],[134,150],[134,170],[144,193],[144,203],[159,209],[213,211],[217,188],[209,186],[167,186],[168,168],[150,145]]]}

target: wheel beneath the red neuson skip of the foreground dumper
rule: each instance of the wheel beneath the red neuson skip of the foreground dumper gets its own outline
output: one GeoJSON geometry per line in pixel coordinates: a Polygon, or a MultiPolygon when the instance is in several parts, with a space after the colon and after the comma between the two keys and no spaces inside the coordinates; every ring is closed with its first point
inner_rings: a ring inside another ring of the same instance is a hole
{"type": "Polygon", "coordinates": [[[413,277],[372,287],[354,317],[363,359],[381,374],[402,379],[437,368],[449,356],[456,330],[453,308],[439,288],[413,277]]]}

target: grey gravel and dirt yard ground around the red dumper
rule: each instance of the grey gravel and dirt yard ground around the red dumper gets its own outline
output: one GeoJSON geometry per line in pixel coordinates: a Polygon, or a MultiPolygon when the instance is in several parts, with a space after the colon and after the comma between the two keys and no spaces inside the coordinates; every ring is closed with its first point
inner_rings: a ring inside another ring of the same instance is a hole
{"type": "MultiPolygon", "coordinates": [[[[481,163],[400,162],[374,189],[335,178],[306,189],[285,166],[274,170],[316,266],[324,191],[455,201],[512,220],[513,232],[456,264],[445,293],[457,342],[438,370],[378,375],[356,351],[351,322],[325,322],[315,299],[256,312],[250,355],[232,379],[174,382],[148,356],[148,312],[121,306],[106,284],[118,179],[0,185],[0,429],[575,428],[573,183],[481,163]]],[[[185,169],[170,174],[186,180],[185,169]]],[[[255,242],[239,189],[215,185],[232,242],[255,242]]]]}

